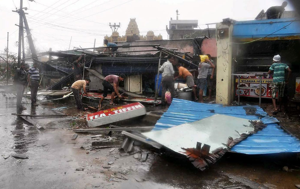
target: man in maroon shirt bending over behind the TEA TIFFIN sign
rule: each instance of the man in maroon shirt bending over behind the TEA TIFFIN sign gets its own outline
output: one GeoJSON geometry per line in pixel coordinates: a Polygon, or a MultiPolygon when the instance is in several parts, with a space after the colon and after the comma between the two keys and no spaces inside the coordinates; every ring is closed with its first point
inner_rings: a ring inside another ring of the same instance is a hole
{"type": "Polygon", "coordinates": [[[119,82],[123,81],[125,79],[125,74],[121,73],[120,76],[116,76],[116,75],[108,75],[104,78],[102,85],[103,85],[103,95],[100,99],[100,104],[99,104],[99,109],[101,108],[101,104],[102,101],[104,100],[105,97],[107,97],[107,91],[108,89],[110,89],[111,91],[113,91],[112,93],[112,97],[110,100],[110,105],[115,105],[113,103],[113,100],[115,98],[115,95],[117,95],[119,98],[121,98],[122,96],[119,94],[119,82]],[[111,83],[113,83],[113,85],[111,85],[111,83]]]}

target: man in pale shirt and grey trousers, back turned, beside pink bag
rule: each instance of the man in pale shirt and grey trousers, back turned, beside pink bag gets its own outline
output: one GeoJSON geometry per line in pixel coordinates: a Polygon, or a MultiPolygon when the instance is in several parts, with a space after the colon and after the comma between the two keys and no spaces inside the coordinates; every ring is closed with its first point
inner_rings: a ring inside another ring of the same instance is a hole
{"type": "Polygon", "coordinates": [[[174,69],[173,64],[178,64],[178,58],[174,55],[168,55],[168,60],[159,68],[160,72],[163,72],[162,79],[161,79],[161,85],[162,85],[162,92],[161,92],[161,105],[165,106],[165,94],[167,89],[169,89],[171,93],[171,100],[173,100],[175,96],[174,91],[174,69]]]}

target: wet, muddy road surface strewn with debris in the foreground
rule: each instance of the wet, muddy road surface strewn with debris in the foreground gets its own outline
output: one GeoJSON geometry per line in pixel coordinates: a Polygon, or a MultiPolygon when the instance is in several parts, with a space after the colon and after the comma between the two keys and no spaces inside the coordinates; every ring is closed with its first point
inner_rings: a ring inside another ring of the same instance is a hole
{"type": "MultiPolygon", "coordinates": [[[[3,90],[0,88],[0,91],[3,90]]],[[[113,152],[109,152],[110,149],[83,150],[79,147],[99,140],[91,139],[88,134],[79,134],[75,141],[70,140],[73,134],[70,129],[85,126],[84,120],[73,120],[71,116],[36,118],[46,127],[45,131],[39,131],[29,127],[30,124],[21,118],[12,116],[11,113],[16,113],[16,99],[6,99],[2,94],[0,188],[214,189],[230,185],[240,188],[294,188],[294,184],[300,183],[299,171],[282,171],[282,158],[229,153],[209,170],[200,172],[172,154],[152,152],[146,162],[140,162],[133,155],[121,157],[118,149],[113,152]],[[18,129],[25,129],[25,132],[11,134],[18,129]],[[16,159],[12,154],[24,154],[29,158],[16,159]],[[5,155],[10,157],[4,159],[5,155]],[[109,161],[114,161],[111,168],[103,168],[109,161]],[[76,171],[76,168],[84,170],[76,171]],[[118,179],[122,175],[128,180],[118,179]]],[[[31,108],[29,98],[23,98],[23,102],[27,110],[19,113],[24,114],[53,114],[55,112],[51,108],[62,106],[53,103],[31,108]]],[[[68,112],[77,113],[77,110],[69,109],[68,112]]],[[[112,137],[114,135],[119,136],[113,133],[112,137]]]]}

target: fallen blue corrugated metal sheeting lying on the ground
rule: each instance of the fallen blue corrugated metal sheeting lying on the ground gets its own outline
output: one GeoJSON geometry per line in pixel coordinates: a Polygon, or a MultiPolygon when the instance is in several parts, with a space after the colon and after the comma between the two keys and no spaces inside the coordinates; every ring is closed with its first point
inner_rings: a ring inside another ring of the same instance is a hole
{"type": "Polygon", "coordinates": [[[300,140],[284,132],[274,117],[258,106],[223,107],[220,104],[204,104],[174,98],[167,112],[165,112],[153,130],[167,129],[184,123],[195,122],[214,114],[234,116],[249,120],[261,119],[267,127],[230,149],[244,154],[270,154],[280,152],[300,152],[300,140]],[[249,114],[253,115],[249,115],[249,114]]]}

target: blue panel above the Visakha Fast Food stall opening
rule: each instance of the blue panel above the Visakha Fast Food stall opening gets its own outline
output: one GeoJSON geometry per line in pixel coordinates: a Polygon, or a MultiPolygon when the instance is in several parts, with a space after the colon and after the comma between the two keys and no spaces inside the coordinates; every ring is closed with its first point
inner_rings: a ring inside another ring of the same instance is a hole
{"type": "Polygon", "coordinates": [[[297,18],[238,21],[233,25],[232,35],[235,38],[296,36],[300,35],[300,21],[297,18]],[[269,35],[273,32],[275,33],[269,35]]]}

